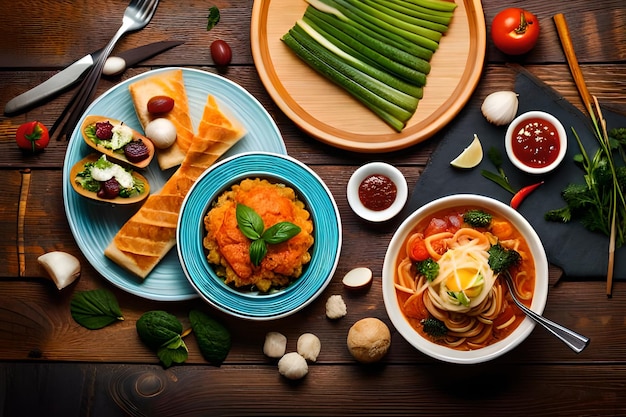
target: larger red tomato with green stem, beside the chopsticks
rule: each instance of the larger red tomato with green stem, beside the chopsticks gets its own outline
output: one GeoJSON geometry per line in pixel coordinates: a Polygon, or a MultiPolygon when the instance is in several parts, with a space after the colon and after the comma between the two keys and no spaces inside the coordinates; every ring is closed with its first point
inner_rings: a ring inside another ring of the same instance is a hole
{"type": "Polygon", "coordinates": [[[538,38],[539,20],[527,10],[504,9],[491,22],[491,39],[505,54],[525,54],[535,46],[538,38]]]}

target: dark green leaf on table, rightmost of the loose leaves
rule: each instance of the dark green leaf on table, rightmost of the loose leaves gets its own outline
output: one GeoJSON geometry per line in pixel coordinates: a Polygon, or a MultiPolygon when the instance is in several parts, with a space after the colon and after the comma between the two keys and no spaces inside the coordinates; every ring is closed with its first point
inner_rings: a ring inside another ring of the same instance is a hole
{"type": "Polygon", "coordinates": [[[189,312],[189,321],[204,359],[220,366],[228,356],[231,347],[228,329],[199,310],[189,312]]]}

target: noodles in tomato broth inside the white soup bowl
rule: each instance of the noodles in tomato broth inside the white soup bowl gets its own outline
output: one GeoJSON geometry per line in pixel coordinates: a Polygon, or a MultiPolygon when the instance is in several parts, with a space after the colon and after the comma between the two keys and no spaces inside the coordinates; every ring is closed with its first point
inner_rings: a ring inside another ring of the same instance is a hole
{"type": "MultiPolygon", "coordinates": [[[[535,285],[533,259],[519,231],[506,219],[492,215],[488,228],[472,228],[462,222],[469,208],[435,213],[421,222],[406,239],[398,259],[396,294],[401,308],[422,336],[458,350],[488,346],[510,334],[524,319],[511,300],[508,287],[489,266],[488,250],[499,243],[521,255],[518,266],[510,269],[515,292],[530,305],[535,285]],[[428,225],[446,225],[429,234],[428,225]],[[411,248],[423,240],[428,255],[439,267],[427,280],[417,272],[410,258],[411,248]],[[444,337],[428,335],[422,321],[435,318],[448,329],[444,337]]],[[[481,209],[482,210],[482,209],[481,209]]],[[[483,210],[484,211],[484,210],[483,210]]]]}

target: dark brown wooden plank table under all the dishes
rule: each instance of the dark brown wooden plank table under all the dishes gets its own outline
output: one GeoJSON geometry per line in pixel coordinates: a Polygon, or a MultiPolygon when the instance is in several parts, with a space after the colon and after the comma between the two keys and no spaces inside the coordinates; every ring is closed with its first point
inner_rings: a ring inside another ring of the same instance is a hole
{"type": "MultiPolygon", "coordinates": [[[[104,45],[120,21],[126,1],[0,1],[0,105],[44,81],[94,46],[104,45]]],[[[156,302],[109,284],[81,254],[67,223],[62,199],[62,165],[67,143],[53,141],[45,152],[26,156],[14,143],[16,128],[29,120],[51,125],[71,94],[14,117],[0,116],[0,416],[198,416],[198,415],[618,415],[626,414],[626,285],[616,282],[607,299],[602,280],[568,280],[551,269],[545,315],[591,338],[576,355],[537,328],[514,351],[490,363],[448,365],[413,349],[392,334],[388,356],[374,366],[356,363],[346,349],[349,327],[366,316],[391,326],[382,302],[383,256],[402,219],[384,227],[359,220],[346,201],[350,174],[370,160],[398,166],[412,189],[439,137],[381,155],[342,151],[301,132],[277,108],[261,84],[250,52],[252,0],[215,2],[220,24],[206,31],[211,2],[162,0],[144,30],[125,36],[119,50],[148,41],[182,39],[122,76],[103,79],[98,93],[149,69],[184,66],[217,72],[209,45],[227,40],[233,62],[221,74],[250,91],[276,120],[288,153],[312,167],[335,196],[344,242],[335,276],[303,311],[277,321],[249,322],[215,312],[231,329],[226,362],[205,362],[193,339],[184,365],[168,369],[138,339],[135,322],[146,311],[163,309],[184,320],[200,300],[156,302]],[[80,279],[63,291],[44,278],[37,257],[52,250],[81,260],[80,279]],[[365,294],[350,294],[341,277],[355,266],[375,276],[365,294]],[[75,291],[107,288],[126,320],[89,331],[70,316],[75,291]],[[325,318],[325,301],[341,294],[348,315],[325,318]],[[294,383],[266,358],[266,332],[288,337],[312,332],[322,352],[309,374],[294,383]]],[[[507,6],[523,6],[540,19],[536,48],[516,62],[582,109],[559,44],[552,16],[564,13],[589,90],[601,103],[626,114],[626,4],[587,0],[483,1],[488,27],[507,6]]],[[[479,97],[511,88],[511,61],[487,42],[487,62],[475,91],[479,97]]],[[[621,260],[620,260],[621,261],[621,260]]],[[[393,327],[391,327],[393,330],[393,327]]]]}

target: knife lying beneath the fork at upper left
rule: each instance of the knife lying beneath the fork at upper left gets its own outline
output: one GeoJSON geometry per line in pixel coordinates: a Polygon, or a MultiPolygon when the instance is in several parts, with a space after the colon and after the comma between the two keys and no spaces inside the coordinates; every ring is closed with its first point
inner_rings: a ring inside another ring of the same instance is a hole
{"type": "MultiPolygon", "coordinates": [[[[129,68],[141,61],[158,55],[168,49],[183,44],[184,41],[160,41],[116,54],[126,62],[129,68]]],[[[101,50],[85,55],[64,70],[48,78],[46,81],[9,100],[4,107],[5,115],[14,115],[40,104],[78,82],[93,65],[101,50]]],[[[110,59],[110,58],[109,58],[110,59]]]]}

